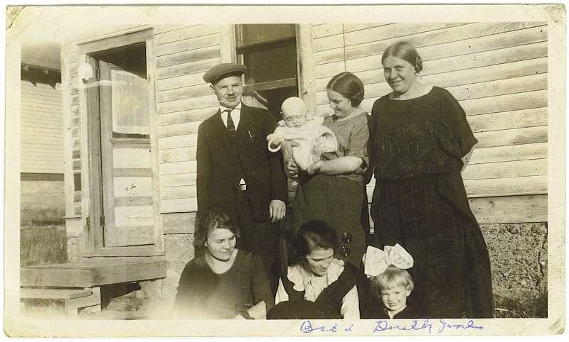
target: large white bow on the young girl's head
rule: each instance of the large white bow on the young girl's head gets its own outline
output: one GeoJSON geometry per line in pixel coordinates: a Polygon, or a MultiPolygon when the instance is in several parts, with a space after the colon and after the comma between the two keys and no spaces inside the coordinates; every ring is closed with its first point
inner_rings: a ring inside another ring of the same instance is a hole
{"type": "Polygon", "coordinates": [[[413,257],[399,243],[395,243],[395,246],[385,246],[383,250],[368,246],[363,258],[364,272],[368,277],[381,275],[389,265],[403,270],[413,267],[413,257]]]}

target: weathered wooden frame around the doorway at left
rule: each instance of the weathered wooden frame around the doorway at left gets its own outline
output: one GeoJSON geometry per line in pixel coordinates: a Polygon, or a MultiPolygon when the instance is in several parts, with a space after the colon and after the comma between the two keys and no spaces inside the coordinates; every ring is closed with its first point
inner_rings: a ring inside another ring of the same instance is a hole
{"type": "MultiPolygon", "coordinates": [[[[148,246],[105,247],[102,234],[102,169],[100,151],[100,106],[97,79],[84,83],[78,79],[80,108],[80,149],[82,182],[81,256],[147,256],[164,255],[164,235],[159,216],[159,151],[158,120],[156,116],[156,54],[154,29],[149,26],[131,28],[77,42],[78,65],[89,63],[95,69],[96,61],[90,55],[112,48],[145,43],[147,59],[149,135],[151,146],[152,192],[154,197],[154,244],[148,246]]],[[[95,76],[95,75],[94,75],[95,76]]]]}

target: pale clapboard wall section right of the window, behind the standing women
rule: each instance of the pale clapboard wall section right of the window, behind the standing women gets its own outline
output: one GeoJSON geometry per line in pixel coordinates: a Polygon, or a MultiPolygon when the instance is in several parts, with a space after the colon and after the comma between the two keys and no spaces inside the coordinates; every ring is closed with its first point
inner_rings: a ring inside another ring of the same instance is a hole
{"type": "Polygon", "coordinates": [[[422,82],[458,99],[479,140],[463,173],[479,222],[547,221],[546,23],[314,25],[318,111],[329,111],[326,83],[343,71],[361,78],[370,111],[390,92],[381,56],[399,40],[415,45],[422,82]]]}

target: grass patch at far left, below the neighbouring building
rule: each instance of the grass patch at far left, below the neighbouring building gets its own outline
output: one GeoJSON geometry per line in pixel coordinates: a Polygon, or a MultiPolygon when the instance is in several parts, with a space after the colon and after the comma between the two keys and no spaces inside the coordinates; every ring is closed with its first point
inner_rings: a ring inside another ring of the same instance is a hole
{"type": "Polygon", "coordinates": [[[65,226],[24,226],[20,229],[20,266],[66,263],[65,226]]]}

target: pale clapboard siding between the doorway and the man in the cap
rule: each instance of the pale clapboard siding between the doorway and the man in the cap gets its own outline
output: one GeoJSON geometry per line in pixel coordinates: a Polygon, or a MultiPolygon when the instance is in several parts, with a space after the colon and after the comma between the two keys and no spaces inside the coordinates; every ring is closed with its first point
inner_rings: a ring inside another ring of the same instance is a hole
{"type": "Polygon", "coordinates": [[[199,25],[156,35],[160,211],[166,233],[188,230],[176,228],[178,214],[166,213],[197,210],[198,127],[218,106],[202,77],[221,61],[220,32],[219,25],[199,25]]]}

